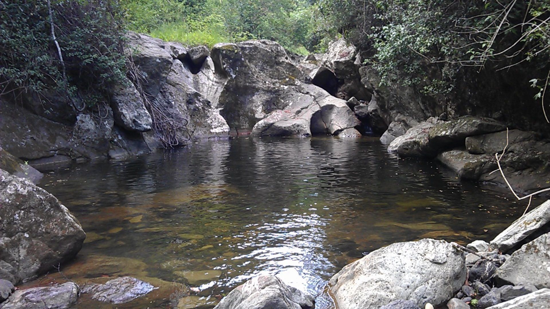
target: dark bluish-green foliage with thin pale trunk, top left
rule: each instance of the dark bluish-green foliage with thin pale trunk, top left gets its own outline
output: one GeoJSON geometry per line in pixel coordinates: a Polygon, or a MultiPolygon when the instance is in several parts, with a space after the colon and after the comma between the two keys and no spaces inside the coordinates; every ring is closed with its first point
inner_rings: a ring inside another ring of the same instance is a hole
{"type": "Polygon", "coordinates": [[[18,96],[46,91],[79,96],[85,103],[107,100],[111,86],[125,76],[123,31],[117,7],[106,0],[52,1],[51,34],[47,2],[0,2],[0,93],[18,96]],[[77,93],[78,89],[78,93],[77,93]]]}

